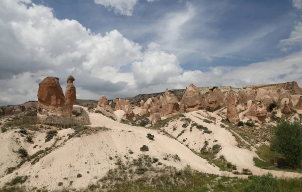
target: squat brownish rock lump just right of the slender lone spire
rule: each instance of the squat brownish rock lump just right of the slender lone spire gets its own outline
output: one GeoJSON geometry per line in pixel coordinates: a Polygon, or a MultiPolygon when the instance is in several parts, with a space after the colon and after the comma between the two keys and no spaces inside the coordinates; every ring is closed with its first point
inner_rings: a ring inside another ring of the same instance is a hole
{"type": "Polygon", "coordinates": [[[252,101],[252,105],[246,113],[247,118],[256,117],[259,121],[265,122],[267,109],[263,102],[252,101]]]}

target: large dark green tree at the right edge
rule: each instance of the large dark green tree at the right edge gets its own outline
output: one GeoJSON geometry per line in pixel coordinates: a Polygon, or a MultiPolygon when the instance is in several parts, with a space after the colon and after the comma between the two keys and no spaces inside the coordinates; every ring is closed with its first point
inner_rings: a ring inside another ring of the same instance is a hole
{"type": "Polygon", "coordinates": [[[299,167],[302,159],[302,121],[281,121],[276,127],[272,146],[284,155],[291,168],[299,167]]]}

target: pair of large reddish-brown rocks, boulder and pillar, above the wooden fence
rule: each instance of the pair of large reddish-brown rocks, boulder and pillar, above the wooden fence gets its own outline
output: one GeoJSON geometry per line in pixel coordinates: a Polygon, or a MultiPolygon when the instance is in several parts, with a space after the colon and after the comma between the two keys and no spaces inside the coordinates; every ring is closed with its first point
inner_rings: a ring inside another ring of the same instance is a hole
{"type": "Polygon", "coordinates": [[[75,96],[74,78],[67,78],[66,98],[57,77],[46,77],[39,83],[38,109],[42,115],[71,115],[72,106],[77,99],[75,96]]]}

